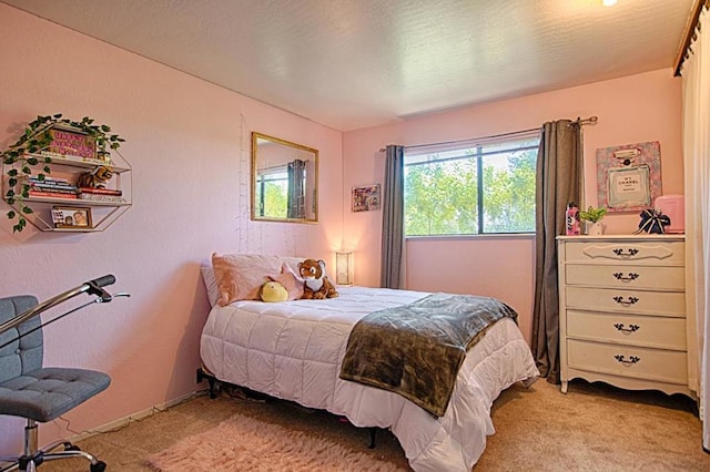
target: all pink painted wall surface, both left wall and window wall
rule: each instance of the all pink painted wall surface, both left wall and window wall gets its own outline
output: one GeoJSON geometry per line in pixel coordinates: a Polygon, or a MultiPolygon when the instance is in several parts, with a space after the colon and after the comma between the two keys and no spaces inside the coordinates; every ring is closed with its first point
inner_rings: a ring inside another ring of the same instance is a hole
{"type": "MultiPolygon", "coordinates": [[[[310,255],[334,264],[332,250],[349,248],[355,281],[378,285],[382,212],[351,213],[349,192],[382,182],[378,150],[388,143],[485,136],[595,114],[599,124],[586,129],[588,162],[596,147],[659,140],[665,191],[682,192],[680,83],[670,70],[342,134],[6,4],[0,43],[0,147],[37,114],[90,115],[126,138],[121,151],[133,167],[133,206],[103,233],[30,228],[17,235],[0,218],[0,296],[45,299],[108,273],[116,276],[115,291],[132,295],[47,328],[48,363],[97,368],[113,379],[108,391],[65,415],[75,431],[195,389],[209,309],[199,266],[212,252],[310,255]],[[320,224],[250,222],[251,131],[320,151],[320,224]]],[[[6,209],[0,204],[0,215],[6,209]]],[[[607,218],[613,233],[630,233],[637,220],[607,218]]],[[[408,287],[501,298],[521,314],[527,335],[532,246],[529,236],[409,242],[408,287]]],[[[20,450],[22,424],[0,418],[0,454],[20,450]]],[[[41,428],[40,442],[72,435],[64,428],[61,421],[41,428]]]]}

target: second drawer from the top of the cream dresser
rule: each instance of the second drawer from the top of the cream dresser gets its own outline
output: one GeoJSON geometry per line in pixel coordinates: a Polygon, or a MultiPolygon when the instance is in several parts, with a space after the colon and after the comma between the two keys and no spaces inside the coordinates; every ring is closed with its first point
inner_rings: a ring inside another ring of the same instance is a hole
{"type": "Polygon", "coordinates": [[[569,285],[682,291],[686,273],[682,267],[673,266],[568,264],[565,268],[565,281],[569,285]]]}

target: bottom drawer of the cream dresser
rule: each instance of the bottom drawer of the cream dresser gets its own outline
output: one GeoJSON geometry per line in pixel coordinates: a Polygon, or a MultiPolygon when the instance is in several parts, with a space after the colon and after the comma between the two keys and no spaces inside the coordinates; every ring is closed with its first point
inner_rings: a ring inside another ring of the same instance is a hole
{"type": "Polygon", "coordinates": [[[638,379],[687,383],[686,352],[567,340],[567,363],[575,369],[638,379]]]}

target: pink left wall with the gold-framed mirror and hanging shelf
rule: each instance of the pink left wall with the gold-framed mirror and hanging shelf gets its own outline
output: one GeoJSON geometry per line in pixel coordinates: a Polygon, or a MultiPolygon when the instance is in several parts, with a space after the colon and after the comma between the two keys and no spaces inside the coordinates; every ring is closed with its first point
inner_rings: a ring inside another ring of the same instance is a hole
{"type": "MultiPolygon", "coordinates": [[[[45,330],[48,365],[113,380],[65,415],[72,430],[194,391],[209,310],[200,264],[215,250],[331,260],[342,230],[342,134],[6,4],[0,43],[0,147],[38,114],[90,115],[125,137],[133,167],[133,205],[102,233],[12,234],[0,204],[0,296],[42,300],[104,274],[115,275],[113,290],[132,295],[45,330]],[[251,131],[320,150],[322,223],[250,222],[251,131]]],[[[0,417],[0,454],[21,450],[22,427],[0,417]]],[[[40,428],[40,442],[71,437],[64,427],[40,428]]]]}

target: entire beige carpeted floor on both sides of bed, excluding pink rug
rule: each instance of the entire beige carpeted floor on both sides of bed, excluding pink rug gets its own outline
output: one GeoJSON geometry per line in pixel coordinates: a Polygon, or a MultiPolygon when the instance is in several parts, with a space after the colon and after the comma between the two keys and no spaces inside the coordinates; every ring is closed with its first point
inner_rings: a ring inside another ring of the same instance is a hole
{"type": "MultiPolygon", "coordinates": [[[[567,394],[545,380],[529,389],[516,384],[494,403],[496,434],[488,438],[474,471],[709,471],[710,454],[702,451],[701,423],[694,409],[696,403],[683,396],[623,391],[604,383],[574,381],[567,394]]],[[[387,431],[378,433],[377,448],[369,450],[368,431],[323,411],[227,396],[194,398],[80,445],[105,461],[109,471],[151,471],[146,463],[151,454],[209,431],[234,414],[258,420],[264,428],[286,428],[290,434],[325,438],[349,453],[369,455],[397,470],[408,469],[399,444],[387,431]]],[[[88,470],[85,461],[62,462],[47,463],[41,470],[88,470]]]]}

